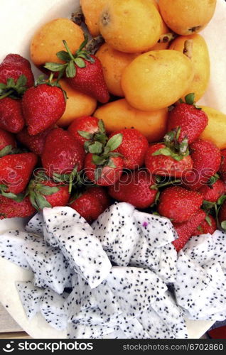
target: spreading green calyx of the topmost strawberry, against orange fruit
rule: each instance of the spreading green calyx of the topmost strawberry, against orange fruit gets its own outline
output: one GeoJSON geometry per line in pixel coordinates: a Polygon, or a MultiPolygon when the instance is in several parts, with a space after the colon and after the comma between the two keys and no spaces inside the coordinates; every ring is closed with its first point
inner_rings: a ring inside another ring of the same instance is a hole
{"type": "Polygon", "coordinates": [[[63,74],[66,74],[66,77],[75,77],[76,75],[76,65],[77,67],[83,68],[86,66],[85,60],[88,62],[94,63],[95,59],[91,57],[90,53],[85,50],[87,45],[88,36],[84,35],[85,40],[80,45],[80,48],[73,55],[68,47],[68,43],[63,40],[65,50],[60,50],[56,55],[60,60],[63,60],[65,64],[59,64],[54,62],[46,62],[45,69],[51,70],[51,72],[59,72],[59,77],[62,77],[63,74]]]}

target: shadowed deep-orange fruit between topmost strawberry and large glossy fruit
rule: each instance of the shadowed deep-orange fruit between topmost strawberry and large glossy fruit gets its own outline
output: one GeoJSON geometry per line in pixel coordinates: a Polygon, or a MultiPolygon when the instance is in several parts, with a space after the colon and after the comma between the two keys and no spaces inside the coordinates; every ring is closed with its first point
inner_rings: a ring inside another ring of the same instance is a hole
{"type": "Polygon", "coordinates": [[[119,52],[107,43],[104,43],[97,50],[96,55],[102,62],[104,80],[108,91],[115,96],[124,97],[121,87],[122,72],[137,55],[119,52]]]}

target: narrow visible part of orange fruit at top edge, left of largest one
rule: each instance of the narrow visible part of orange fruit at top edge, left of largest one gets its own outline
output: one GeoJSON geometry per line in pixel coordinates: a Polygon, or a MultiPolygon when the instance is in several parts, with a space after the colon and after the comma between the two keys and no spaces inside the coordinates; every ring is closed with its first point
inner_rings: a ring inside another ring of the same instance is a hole
{"type": "Polygon", "coordinates": [[[99,17],[108,0],[80,0],[85,23],[93,37],[99,35],[99,17]]]}

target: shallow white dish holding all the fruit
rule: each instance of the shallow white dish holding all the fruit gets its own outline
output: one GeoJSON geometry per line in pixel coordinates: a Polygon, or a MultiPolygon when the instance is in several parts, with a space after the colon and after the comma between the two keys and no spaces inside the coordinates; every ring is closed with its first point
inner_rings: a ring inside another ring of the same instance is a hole
{"type": "MultiPolygon", "coordinates": [[[[1,1],[1,55],[0,60],[9,53],[18,53],[29,58],[29,45],[36,29],[43,23],[58,17],[70,17],[79,0],[7,0],[1,1]]],[[[225,53],[226,53],[226,4],[217,0],[214,18],[202,32],[208,43],[212,62],[212,74],[208,91],[200,100],[215,109],[226,113],[225,100],[225,53]],[[223,42],[224,41],[224,42],[223,42]]],[[[35,73],[38,71],[34,69],[35,73]]],[[[23,229],[23,219],[4,219],[0,221],[0,233],[7,229],[23,229]]],[[[66,332],[50,327],[41,315],[28,322],[16,291],[15,282],[31,280],[32,273],[0,258],[0,301],[11,316],[33,338],[65,338],[66,332]]],[[[212,322],[189,321],[190,338],[201,337],[212,322]]]]}

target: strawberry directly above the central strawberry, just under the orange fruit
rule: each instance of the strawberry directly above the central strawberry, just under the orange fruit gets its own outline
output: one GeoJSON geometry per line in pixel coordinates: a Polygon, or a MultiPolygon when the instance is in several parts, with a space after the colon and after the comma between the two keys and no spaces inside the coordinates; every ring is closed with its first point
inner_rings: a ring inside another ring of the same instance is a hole
{"type": "MultiPolygon", "coordinates": [[[[104,122],[92,116],[75,119],[68,127],[68,132],[82,145],[88,141],[90,143],[100,141],[103,144],[107,141],[104,122]]],[[[90,144],[86,146],[90,146],[90,144]]]]}

